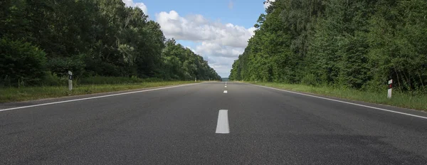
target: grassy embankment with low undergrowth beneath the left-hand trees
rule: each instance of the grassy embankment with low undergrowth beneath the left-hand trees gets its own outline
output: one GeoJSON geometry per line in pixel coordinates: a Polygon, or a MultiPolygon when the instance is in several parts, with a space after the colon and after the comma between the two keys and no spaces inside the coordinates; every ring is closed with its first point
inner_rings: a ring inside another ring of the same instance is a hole
{"type": "Polygon", "coordinates": [[[19,102],[44,98],[85,95],[99,92],[135,90],[147,87],[161,87],[194,83],[194,81],[162,81],[139,78],[93,77],[75,80],[73,90],[68,90],[68,80],[63,78],[63,85],[42,85],[36,87],[0,87],[0,102],[19,102]]]}

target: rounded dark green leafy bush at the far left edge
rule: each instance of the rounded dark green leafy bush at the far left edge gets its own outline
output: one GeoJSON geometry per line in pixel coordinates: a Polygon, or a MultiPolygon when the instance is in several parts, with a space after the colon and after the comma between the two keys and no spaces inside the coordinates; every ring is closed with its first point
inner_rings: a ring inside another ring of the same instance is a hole
{"type": "Polygon", "coordinates": [[[0,85],[40,84],[46,75],[46,53],[30,43],[0,40],[0,85]]]}

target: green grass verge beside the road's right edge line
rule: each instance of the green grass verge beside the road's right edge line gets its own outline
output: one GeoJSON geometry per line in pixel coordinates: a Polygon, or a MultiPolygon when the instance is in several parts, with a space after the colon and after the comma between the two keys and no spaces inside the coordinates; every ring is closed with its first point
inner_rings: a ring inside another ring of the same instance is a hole
{"type": "Polygon", "coordinates": [[[353,89],[337,89],[333,87],[312,87],[308,85],[290,85],[273,82],[249,82],[256,85],[276,87],[284,90],[297,92],[309,92],[318,95],[344,98],[347,100],[358,100],[381,105],[392,105],[396,107],[411,108],[414,110],[427,111],[427,95],[411,95],[406,92],[393,91],[393,97],[387,98],[387,92],[367,92],[353,89]]]}

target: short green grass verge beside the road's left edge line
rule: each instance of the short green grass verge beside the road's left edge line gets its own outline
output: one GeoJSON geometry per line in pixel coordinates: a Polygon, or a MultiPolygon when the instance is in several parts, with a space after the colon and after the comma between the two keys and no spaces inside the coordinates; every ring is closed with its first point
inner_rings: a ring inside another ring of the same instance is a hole
{"type": "Polygon", "coordinates": [[[194,81],[164,81],[140,82],[131,84],[101,84],[101,85],[74,85],[73,91],[68,86],[42,87],[3,87],[0,88],[0,102],[20,102],[44,98],[63,97],[69,95],[85,95],[99,92],[113,92],[120,90],[135,90],[147,87],[161,87],[194,83],[194,81]]]}

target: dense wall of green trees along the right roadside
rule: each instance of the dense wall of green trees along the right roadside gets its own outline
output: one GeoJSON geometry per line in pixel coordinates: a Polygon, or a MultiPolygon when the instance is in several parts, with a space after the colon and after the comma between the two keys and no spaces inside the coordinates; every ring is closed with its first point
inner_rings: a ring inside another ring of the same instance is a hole
{"type": "Polygon", "coordinates": [[[231,80],[426,90],[427,1],[276,0],[231,80]]]}

